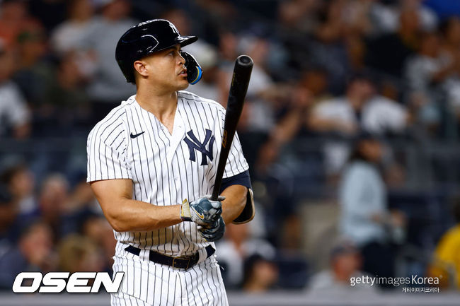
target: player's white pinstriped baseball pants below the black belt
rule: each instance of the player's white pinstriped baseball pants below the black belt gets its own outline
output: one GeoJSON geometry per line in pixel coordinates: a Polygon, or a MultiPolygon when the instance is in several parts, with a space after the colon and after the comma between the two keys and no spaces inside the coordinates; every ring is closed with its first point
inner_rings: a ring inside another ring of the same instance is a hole
{"type": "Polygon", "coordinates": [[[125,271],[111,305],[228,305],[219,264],[209,257],[187,271],[127,254],[115,257],[114,272],[125,271]],[[133,302],[134,301],[134,302],[133,302]]]}

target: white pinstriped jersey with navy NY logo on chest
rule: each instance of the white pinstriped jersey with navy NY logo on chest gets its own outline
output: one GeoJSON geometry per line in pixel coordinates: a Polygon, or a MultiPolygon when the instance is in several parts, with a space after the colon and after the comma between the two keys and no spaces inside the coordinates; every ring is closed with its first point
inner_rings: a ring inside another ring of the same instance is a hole
{"type": "MultiPolygon", "coordinates": [[[[178,91],[173,133],[133,95],[98,122],[88,136],[87,182],[132,180],[132,199],[158,206],[194,201],[212,193],[225,110],[212,100],[178,91]]],[[[235,134],[224,178],[248,170],[235,134]]],[[[190,255],[209,245],[192,222],[152,231],[114,231],[116,256],[133,245],[173,257],[190,255]]]]}

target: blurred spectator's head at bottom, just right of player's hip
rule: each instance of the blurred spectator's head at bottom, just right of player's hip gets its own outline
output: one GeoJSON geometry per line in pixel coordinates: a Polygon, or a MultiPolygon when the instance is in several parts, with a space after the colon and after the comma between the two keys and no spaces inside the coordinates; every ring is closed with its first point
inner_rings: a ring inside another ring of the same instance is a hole
{"type": "Polygon", "coordinates": [[[273,288],[277,279],[278,267],[270,259],[253,254],[244,261],[244,292],[265,293],[273,288]]]}

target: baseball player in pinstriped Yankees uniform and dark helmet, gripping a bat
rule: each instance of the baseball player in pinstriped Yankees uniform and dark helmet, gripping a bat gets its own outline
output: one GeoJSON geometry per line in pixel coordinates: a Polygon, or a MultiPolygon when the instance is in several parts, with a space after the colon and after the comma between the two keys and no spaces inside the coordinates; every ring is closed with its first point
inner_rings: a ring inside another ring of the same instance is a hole
{"type": "Polygon", "coordinates": [[[224,108],[187,91],[201,77],[181,47],[195,42],[168,20],[120,38],[115,57],[137,93],[88,136],[88,182],[117,239],[125,272],[111,305],[228,305],[214,241],[253,218],[248,164],[236,135],[222,193],[210,201],[224,108]]]}

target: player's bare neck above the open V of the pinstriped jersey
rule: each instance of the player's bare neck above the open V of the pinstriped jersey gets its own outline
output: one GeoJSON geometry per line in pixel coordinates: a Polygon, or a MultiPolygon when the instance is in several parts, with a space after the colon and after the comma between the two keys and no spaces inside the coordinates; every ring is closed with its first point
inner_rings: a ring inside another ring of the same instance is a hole
{"type": "Polygon", "coordinates": [[[170,117],[174,118],[178,102],[177,92],[154,93],[137,90],[136,101],[146,111],[151,112],[161,122],[170,117]]]}

